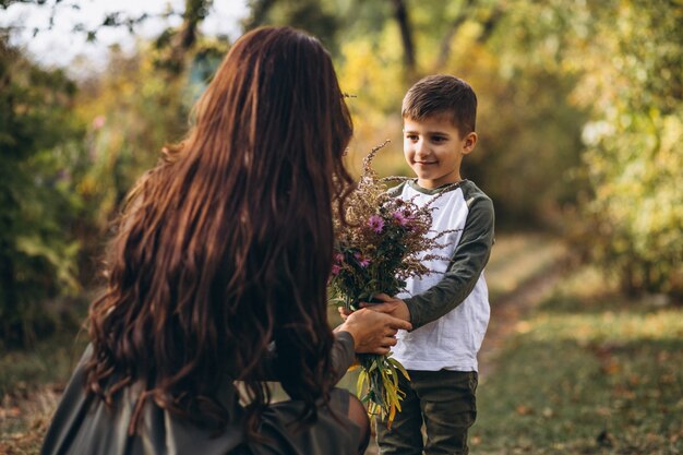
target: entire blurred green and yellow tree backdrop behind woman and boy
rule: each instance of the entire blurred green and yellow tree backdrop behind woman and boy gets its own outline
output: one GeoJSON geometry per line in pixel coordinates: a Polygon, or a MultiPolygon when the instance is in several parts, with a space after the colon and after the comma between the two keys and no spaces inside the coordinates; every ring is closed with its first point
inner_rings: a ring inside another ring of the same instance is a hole
{"type": "MultiPolygon", "coordinates": [[[[13,3],[0,3],[0,11],[13,3]]],[[[58,8],[59,2],[50,3],[58,8]]],[[[47,8],[47,7],[46,7],[47,8]]],[[[83,8],[87,8],[83,5],[83,8]]],[[[41,69],[2,34],[0,338],[26,343],[46,301],[94,285],[112,217],[158,151],[182,139],[230,40],[203,36],[213,2],[88,77],[41,69]],[[28,303],[31,302],[31,303],[28,303]]],[[[148,15],[113,12],[133,34],[148,15]]],[[[409,175],[400,101],[451,73],[479,96],[465,175],[499,230],[550,229],[624,289],[683,294],[683,5],[609,0],[250,0],[243,31],[292,25],[331,50],[356,123],[348,164],[409,175]]],[[[74,27],[96,40],[99,28],[74,27]]],[[[38,327],[38,328],[36,328],[38,327]]]]}

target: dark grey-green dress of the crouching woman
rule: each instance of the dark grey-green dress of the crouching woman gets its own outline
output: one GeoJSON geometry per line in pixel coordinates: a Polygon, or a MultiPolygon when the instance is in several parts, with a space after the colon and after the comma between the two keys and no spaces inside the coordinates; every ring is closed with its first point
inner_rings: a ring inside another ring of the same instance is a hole
{"type": "MultiPolygon", "coordinates": [[[[355,358],[354,339],[347,332],[335,334],[333,364],[337,376],[346,372],[355,358]]],[[[346,416],[349,393],[335,388],[332,408],[320,410],[317,421],[304,431],[297,431],[301,402],[289,400],[271,405],[263,414],[260,433],[267,443],[243,444],[238,392],[226,381],[219,396],[227,409],[232,409],[224,431],[201,428],[180,419],[148,399],[143,420],[135,435],[128,434],[131,415],[142,385],[133,384],[117,395],[109,409],[85,393],[84,366],[92,355],[88,347],[64,391],[46,435],[41,455],[218,455],[218,454],[356,454],[360,429],[346,416]],[[290,424],[295,423],[295,424],[290,424]]]]}

